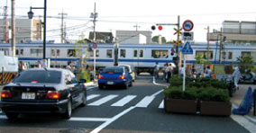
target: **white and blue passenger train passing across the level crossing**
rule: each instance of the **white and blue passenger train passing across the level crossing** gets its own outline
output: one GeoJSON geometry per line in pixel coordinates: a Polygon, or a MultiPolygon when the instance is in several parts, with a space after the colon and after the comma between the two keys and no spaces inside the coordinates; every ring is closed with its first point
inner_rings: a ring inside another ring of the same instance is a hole
{"type": "MultiPolygon", "coordinates": [[[[206,42],[191,42],[193,54],[186,55],[187,64],[195,64],[197,55],[203,55],[212,64],[221,65],[237,64],[237,58],[241,56],[251,56],[256,60],[256,45],[224,43],[221,52],[219,46],[218,42],[211,42],[209,45],[206,42]]],[[[41,43],[18,43],[15,48],[16,57],[19,61],[36,67],[37,62],[42,59],[42,48],[41,43]]],[[[152,73],[156,62],[163,67],[166,63],[174,63],[182,58],[176,51],[173,53],[173,48],[174,44],[47,43],[46,58],[50,60],[50,67],[66,67],[69,62],[76,64],[85,59],[88,67],[96,67],[97,70],[114,66],[115,63],[130,65],[133,71],[140,74],[152,73]]],[[[4,51],[6,56],[10,55],[11,49],[11,44],[0,44],[0,50],[4,51]]],[[[180,49],[182,47],[178,47],[178,51],[180,49]]]]}

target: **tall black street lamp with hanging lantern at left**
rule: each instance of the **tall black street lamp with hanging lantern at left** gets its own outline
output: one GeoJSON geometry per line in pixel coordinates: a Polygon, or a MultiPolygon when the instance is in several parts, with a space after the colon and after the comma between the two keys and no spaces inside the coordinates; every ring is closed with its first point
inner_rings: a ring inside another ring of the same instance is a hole
{"type": "Polygon", "coordinates": [[[43,14],[43,46],[42,46],[42,61],[43,61],[43,67],[46,67],[46,1],[44,0],[44,7],[32,7],[31,6],[31,10],[30,12],[28,12],[28,17],[29,19],[32,19],[33,17],[33,13],[32,13],[32,9],[43,9],[44,10],[44,14],[43,14]]]}

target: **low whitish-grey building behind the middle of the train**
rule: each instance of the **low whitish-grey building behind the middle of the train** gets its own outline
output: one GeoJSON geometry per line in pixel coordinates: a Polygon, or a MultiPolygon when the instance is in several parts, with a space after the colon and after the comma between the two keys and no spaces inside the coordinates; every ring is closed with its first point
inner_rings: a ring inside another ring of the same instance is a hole
{"type": "Polygon", "coordinates": [[[119,43],[123,43],[123,41],[125,41],[125,43],[140,43],[142,42],[144,44],[144,38],[142,37],[145,36],[146,37],[146,44],[151,44],[151,31],[116,31],[116,38],[117,38],[117,42],[119,43]],[[140,38],[141,37],[141,38],[140,38]],[[135,38],[139,39],[137,41],[134,41],[135,38]],[[132,40],[132,41],[128,41],[128,40],[132,40]]]}

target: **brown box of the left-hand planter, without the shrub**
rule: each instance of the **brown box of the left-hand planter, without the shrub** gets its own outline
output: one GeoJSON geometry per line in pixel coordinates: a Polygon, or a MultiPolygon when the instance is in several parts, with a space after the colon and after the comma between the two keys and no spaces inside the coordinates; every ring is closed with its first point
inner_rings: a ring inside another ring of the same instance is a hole
{"type": "Polygon", "coordinates": [[[164,98],[164,109],[167,112],[197,113],[197,100],[164,98]]]}

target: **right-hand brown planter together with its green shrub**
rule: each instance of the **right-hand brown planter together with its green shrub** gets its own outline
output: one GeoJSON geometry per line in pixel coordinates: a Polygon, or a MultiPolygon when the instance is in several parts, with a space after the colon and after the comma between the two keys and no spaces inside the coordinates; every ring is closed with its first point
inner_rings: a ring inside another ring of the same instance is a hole
{"type": "Polygon", "coordinates": [[[232,104],[227,89],[208,87],[197,94],[202,115],[230,116],[232,104]]]}

